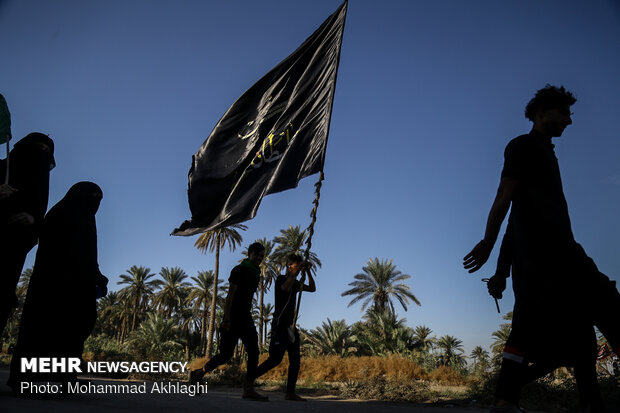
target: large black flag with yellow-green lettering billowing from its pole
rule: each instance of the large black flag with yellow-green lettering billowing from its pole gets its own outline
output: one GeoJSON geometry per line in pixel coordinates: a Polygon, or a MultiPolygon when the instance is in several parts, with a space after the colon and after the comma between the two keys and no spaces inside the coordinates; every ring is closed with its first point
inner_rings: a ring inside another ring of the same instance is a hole
{"type": "Polygon", "coordinates": [[[172,235],[252,219],[263,196],[323,169],[346,11],[345,1],[226,111],[192,157],[192,219],[172,235]]]}

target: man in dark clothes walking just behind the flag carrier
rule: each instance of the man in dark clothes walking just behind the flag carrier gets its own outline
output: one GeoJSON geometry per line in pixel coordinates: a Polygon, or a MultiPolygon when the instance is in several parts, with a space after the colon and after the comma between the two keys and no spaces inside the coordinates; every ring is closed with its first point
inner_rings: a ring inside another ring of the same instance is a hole
{"type": "Polygon", "coordinates": [[[252,297],[260,281],[260,264],[265,257],[265,247],[258,242],[248,247],[248,258],[230,272],[228,296],[224,305],[224,320],[220,326],[219,353],[211,358],[201,369],[192,370],[190,383],[198,383],[205,373],[215,370],[228,362],[239,339],[248,354],[247,372],[243,384],[243,398],[267,401],[254,390],[254,377],[258,364],[258,335],[252,320],[252,297]]]}

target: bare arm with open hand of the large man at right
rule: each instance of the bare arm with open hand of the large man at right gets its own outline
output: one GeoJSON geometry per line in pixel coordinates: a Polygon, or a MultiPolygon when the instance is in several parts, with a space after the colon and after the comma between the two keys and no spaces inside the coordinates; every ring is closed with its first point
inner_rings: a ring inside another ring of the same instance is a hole
{"type": "Polygon", "coordinates": [[[502,177],[489,211],[484,238],[463,258],[463,267],[470,273],[478,271],[489,259],[516,188],[517,181],[514,178],[502,177]]]}

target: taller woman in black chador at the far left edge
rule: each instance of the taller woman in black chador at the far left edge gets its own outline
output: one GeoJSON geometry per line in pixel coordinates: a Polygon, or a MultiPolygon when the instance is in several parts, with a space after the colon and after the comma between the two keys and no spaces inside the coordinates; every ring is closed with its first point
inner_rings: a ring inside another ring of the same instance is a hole
{"type": "Polygon", "coordinates": [[[0,335],[17,307],[15,287],[47,210],[50,171],[56,166],[54,142],[31,133],[15,144],[9,160],[8,185],[7,161],[0,160],[0,335]]]}

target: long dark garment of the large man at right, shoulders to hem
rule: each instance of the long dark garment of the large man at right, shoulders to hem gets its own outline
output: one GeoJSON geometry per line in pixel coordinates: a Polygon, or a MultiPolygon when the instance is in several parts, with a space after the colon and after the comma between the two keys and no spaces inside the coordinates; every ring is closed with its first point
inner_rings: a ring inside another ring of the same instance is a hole
{"type": "Polygon", "coordinates": [[[498,272],[512,266],[515,306],[507,345],[533,362],[568,366],[595,346],[595,336],[584,300],[587,256],[573,237],[553,148],[536,131],[506,146],[502,177],[515,179],[517,187],[498,272]]]}

